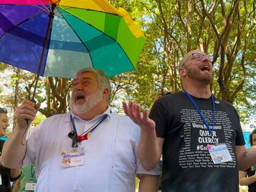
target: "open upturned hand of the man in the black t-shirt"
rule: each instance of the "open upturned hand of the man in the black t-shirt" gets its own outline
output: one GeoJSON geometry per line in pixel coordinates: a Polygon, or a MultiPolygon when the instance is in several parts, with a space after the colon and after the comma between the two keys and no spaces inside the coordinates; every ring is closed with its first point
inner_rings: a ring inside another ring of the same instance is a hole
{"type": "Polygon", "coordinates": [[[124,113],[129,116],[130,119],[141,129],[152,129],[155,130],[155,122],[148,117],[147,111],[143,110],[140,112],[140,106],[132,101],[129,101],[129,106],[126,102],[123,102],[124,113]]]}

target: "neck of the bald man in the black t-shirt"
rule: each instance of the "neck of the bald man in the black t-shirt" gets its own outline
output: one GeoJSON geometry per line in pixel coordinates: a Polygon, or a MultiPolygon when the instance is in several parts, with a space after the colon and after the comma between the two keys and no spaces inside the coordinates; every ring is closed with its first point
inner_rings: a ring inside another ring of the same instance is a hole
{"type": "Polygon", "coordinates": [[[210,85],[187,84],[183,85],[184,90],[196,98],[210,98],[212,92],[210,85]]]}

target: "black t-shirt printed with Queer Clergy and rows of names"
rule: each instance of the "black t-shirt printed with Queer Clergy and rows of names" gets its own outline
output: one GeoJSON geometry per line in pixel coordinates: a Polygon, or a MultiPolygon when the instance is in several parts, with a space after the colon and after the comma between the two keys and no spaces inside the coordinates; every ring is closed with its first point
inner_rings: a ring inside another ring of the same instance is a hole
{"type": "MultiPolygon", "coordinates": [[[[212,99],[195,98],[205,120],[212,127],[212,99]]],[[[236,145],[244,145],[240,119],[235,108],[215,100],[215,129],[218,143],[226,143],[232,162],[213,164],[207,149],[211,136],[196,108],[183,93],[173,93],[155,101],[149,115],[155,121],[157,137],[163,143],[162,191],[232,192],[238,189],[236,145]]]]}

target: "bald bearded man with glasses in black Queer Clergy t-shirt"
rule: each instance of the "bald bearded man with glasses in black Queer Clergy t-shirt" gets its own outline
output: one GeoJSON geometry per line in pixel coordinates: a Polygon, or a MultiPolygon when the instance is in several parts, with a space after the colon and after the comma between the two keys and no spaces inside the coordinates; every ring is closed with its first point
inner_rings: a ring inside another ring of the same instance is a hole
{"type": "Polygon", "coordinates": [[[153,169],[163,154],[163,192],[239,191],[238,170],[256,164],[256,149],[244,148],[235,108],[211,93],[212,62],[198,49],[188,52],[179,63],[184,90],[157,99],[149,118],[132,101],[123,103],[141,127],[143,167],[153,169]]]}

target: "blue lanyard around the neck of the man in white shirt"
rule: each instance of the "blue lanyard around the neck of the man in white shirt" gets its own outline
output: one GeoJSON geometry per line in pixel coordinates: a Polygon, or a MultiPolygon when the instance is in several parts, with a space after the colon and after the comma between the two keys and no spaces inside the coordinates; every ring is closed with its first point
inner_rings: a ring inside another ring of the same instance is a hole
{"type": "Polygon", "coordinates": [[[88,130],[86,130],[85,132],[83,132],[81,135],[78,135],[77,134],[77,130],[76,130],[76,126],[74,124],[74,119],[73,119],[73,116],[70,114],[70,121],[72,123],[72,127],[73,127],[73,130],[74,130],[74,134],[76,135],[77,139],[77,144],[76,144],[76,147],[78,146],[78,143],[80,141],[84,141],[84,140],[87,140],[88,139],[88,135],[93,132],[98,126],[99,124],[102,123],[102,121],[105,120],[105,118],[107,118],[107,114],[105,114],[104,116],[102,116],[101,119],[99,119],[99,121],[97,121],[93,126],[91,126],[88,130]]]}

